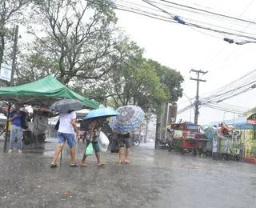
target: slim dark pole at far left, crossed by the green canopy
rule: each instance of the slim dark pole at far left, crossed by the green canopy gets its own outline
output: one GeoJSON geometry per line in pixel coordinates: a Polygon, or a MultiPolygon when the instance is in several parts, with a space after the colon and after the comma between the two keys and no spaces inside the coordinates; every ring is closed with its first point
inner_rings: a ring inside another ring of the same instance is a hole
{"type": "MultiPolygon", "coordinates": [[[[14,70],[15,70],[15,62],[16,62],[16,54],[17,54],[17,45],[18,45],[18,26],[15,26],[15,35],[14,35],[14,50],[13,50],[13,60],[11,65],[11,76],[10,76],[10,86],[14,86],[14,70]]],[[[8,126],[9,126],[9,115],[10,115],[10,102],[8,106],[7,112],[7,121],[6,121],[6,141],[8,138],[8,126]]]]}

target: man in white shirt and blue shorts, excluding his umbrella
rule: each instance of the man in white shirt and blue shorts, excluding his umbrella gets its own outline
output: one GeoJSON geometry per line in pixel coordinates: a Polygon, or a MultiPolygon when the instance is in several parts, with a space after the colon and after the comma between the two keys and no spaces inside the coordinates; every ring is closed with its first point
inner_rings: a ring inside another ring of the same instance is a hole
{"type": "Polygon", "coordinates": [[[57,167],[58,154],[62,151],[62,148],[67,142],[70,146],[71,163],[70,166],[77,167],[78,163],[75,163],[75,138],[74,131],[77,133],[79,140],[79,131],[75,122],[76,114],[74,110],[68,112],[62,112],[59,114],[59,126],[58,126],[58,147],[55,150],[54,160],[51,162],[50,167],[57,167]]]}

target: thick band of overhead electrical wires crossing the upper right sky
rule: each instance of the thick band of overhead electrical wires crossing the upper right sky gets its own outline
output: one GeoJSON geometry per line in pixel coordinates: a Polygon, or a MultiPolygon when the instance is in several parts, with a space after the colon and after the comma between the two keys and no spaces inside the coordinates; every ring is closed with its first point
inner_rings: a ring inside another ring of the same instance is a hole
{"type": "MultiPolygon", "coordinates": [[[[99,0],[98,0],[99,1],[99,0]]],[[[97,1],[94,1],[97,2],[97,1]]],[[[103,0],[104,2],[104,0],[103,0]]],[[[216,38],[236,37],[238,40],[256,40],[256,22],[234,18],[211,10],[187,6],[166,0],[116,0],[114,9],[156,18],[162,21],[190,26],[195,30],[206,30],[208,34],[215,34],[216,38]],[[233,28],[235,22],[236,29],[233,28]],[[251,28],[248,28],[251,26],[251,28]],[[247,27],[250,31],[245,32],[247,27]]],[[[255,20],[255,18],[254,18],[255,20]]]]}

